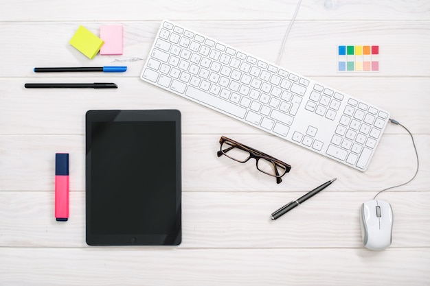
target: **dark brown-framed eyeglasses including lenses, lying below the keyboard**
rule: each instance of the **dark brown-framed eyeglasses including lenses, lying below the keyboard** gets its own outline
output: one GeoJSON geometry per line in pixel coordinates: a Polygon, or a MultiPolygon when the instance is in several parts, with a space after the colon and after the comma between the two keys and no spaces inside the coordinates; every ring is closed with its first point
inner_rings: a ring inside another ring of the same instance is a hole
{"type": "Polygon", "coordinates": [[[258,171],[275,177],[278,184],[282,182],[281,177],[291,169],[291,166],[287,163],[248,147],[247,145],[228,139],[225,136],[221,136],[220,145],[220,150],[217,152],[218,157],[225,155],[240,163],[245,163],[250,158],[254,158],[256,159],[258,171]]]}

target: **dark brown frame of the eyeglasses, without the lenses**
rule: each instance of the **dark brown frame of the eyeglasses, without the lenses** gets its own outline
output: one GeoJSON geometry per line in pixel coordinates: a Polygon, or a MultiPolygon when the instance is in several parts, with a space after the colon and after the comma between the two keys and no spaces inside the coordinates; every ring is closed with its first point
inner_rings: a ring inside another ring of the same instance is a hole
{"type": "Polygon", "coordinates": [[[249,159],[254,158],[254,159],[256,159],[256,167],[257,167],[258,171],[262,172],[263,174],[267,174],[269,176],[275,177],[276,183],[278,183],[278,184],[280,184],[280,182],[282,182],[281,177],[284,176],[286,173],[288,173],[291,170],[291,165],[289,165],[285,162],[282,162],[282,160],[279,160],[273,156],[270,156],[270,155],[265,154],[261,151],[258,151],[258,150],[254,149],[252,147],[249,147],[245,144],[239,143],[238,141],[234,141],[232,139],[229,139],[226,136],[221,136],[219,143],[220,143],[220,150],[218,152],[216,152],[218,157],[225,155],[228,158],[230,158],[231,160],[235,160],[236,162],[239,162],[239,163],[246,163],[247,161],[249,161],[249,159]],[[234,144],[234,145],[231,145],[231,147],[227,148],[226,149],[227,151],[222,149],[223,143],[225,143],[226,141],[229,141],[229,142],[234,144]],[[249,152],[248,158],[244,161],[241,161],[241,160],[237,160],[235,158],[232,158],[231,156],[228,156],[226,153],[229,152],[230,150],[232,150],[233,148],[238,148],[240,150],[249,152]],[[275,175],[269,174],[266,171],[262,171],[261,169],[258,168],[258,160],[260,160],[260,158],[263,158],[264,160],[267,160],[273,164],[273,167],[275,169],[275,175]],[[278,168],[276,167],[276,165],[278,165],[278,167],[282,167],[285,169],[284,174],[280,175],[278,173],[278,168]]]}

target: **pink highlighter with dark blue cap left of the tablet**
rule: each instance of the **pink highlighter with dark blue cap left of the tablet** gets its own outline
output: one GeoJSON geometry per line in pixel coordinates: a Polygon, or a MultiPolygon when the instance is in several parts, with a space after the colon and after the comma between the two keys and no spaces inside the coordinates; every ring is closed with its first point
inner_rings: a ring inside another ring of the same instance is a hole
{"type": "Polygon", "coordinates": [[[69,154],[55,154],[55,217],[57,222],[69,219],[69,154]]]}

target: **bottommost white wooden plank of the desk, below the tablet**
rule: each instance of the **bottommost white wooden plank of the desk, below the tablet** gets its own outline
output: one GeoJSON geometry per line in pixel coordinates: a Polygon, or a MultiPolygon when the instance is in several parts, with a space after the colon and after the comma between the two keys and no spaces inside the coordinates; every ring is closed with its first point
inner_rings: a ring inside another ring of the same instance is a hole
{"type": "Polygon", "coordinates": [[[408,248],[1,248],[0,255],[7,285],[418,286],[430,279],[429,252],[408,248]]]}

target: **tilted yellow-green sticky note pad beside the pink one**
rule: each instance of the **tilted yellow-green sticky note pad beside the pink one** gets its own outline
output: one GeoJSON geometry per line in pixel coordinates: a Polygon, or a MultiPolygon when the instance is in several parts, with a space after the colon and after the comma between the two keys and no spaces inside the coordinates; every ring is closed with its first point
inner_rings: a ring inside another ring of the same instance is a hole
{"type": "Polygon", "coordinates": [[[81,25],[78,27],[78,30],[76,30],[73,38],[69,41],[69,44],[88,58],[93,59],[98,51],[100,51],[104,42],[101,38],[95,36],[95,34],[81,25]]]}

